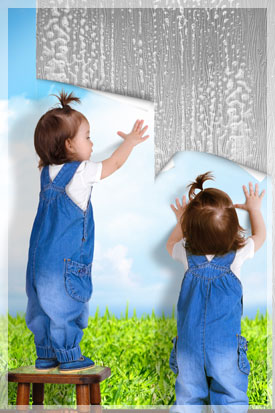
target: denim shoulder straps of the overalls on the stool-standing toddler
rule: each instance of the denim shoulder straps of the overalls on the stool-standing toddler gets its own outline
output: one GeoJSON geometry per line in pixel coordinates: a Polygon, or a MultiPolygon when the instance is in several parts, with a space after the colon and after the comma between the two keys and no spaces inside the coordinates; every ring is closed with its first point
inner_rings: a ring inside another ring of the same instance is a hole
{"type": "Polygon", "coordinates": [[[74,176],[74,173],[77,170],[80,163],[80,161],[65,163],[53,181],[51,181],[50,179],[49,165],[44,166],[40,176],[41,189],[43,190],[44,187],[48,185],[54,185],[59,188],[65,188],[65,186],[70,182],[70,180],[74,176]]]}

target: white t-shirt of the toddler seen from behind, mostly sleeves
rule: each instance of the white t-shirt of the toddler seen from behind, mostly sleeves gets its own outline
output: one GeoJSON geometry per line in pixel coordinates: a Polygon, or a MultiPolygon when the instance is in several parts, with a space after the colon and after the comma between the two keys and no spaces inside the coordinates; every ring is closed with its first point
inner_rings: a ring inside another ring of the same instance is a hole
{"type": "MultiPolygon", "coordinates": [[[[208,261],[211,261],[215,255],[206,255],[208,261]]],[[[246,239],[245,245],[236,251],[235,258],[230,265],[231,271],[240,278],[241,266],[248,258],[254,256],[254,241],[251,237],[246,239]]],[[[185,238],[181,239],[173,247],[172,258],[183,263],[185,271],[188,269],[188,261],[185,249],[185,238]]]]}

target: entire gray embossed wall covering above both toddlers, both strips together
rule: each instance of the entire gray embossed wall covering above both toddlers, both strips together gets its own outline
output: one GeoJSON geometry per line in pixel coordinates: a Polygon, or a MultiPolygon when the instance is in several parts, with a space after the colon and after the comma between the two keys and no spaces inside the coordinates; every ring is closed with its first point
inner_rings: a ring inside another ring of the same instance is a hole
{"type": "Polygon", "coordinates": [[[266,172],[266,9],[38,8],[37,77],[155,102],[179,150],[266,172]]]}

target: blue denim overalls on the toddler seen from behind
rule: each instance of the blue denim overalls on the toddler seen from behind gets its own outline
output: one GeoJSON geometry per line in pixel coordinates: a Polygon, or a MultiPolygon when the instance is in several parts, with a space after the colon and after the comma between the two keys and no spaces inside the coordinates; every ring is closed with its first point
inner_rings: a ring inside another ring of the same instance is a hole
{"type": "MultiPolygon", "coordinates": [[[[178,337],[170,356],[170,367],[178,374],[175,405],[227,405],[214,406],[213,411],[246,412],[250,365],[248,342],[241,336],[242,284],[230,269],[236,253],[215,256],[210,262],[187,249],[186,253],[188,270],[177,304],[178,337]]],[[[172,411],[205,410],[173,406],[172,411]]]]}

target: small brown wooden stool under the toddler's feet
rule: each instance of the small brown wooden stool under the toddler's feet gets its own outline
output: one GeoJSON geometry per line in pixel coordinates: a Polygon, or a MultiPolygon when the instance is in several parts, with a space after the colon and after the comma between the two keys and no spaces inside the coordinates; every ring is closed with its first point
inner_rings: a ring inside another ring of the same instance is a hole
{"type": "Polygon", "coordinates": [[[100,382],[111,375],[109,367],[93,366],[87,370],[60,373],[58,367],[50,371],[38,371],[34,366],[22,366],[9,370],[8,381],[18,383],[16,405],[29,405],[32,383],[33,405],[43,405],[44,383],[76,385],[76,401],[79,405],[99,405],[100,382]]]}

